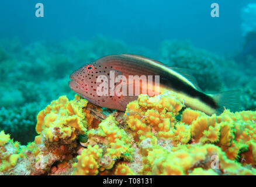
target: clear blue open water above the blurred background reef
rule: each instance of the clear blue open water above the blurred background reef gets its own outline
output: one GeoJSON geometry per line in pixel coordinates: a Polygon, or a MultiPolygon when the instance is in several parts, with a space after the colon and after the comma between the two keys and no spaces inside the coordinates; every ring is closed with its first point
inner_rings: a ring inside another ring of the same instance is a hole
{"type": "Polygon", "coordinates": [[[0,37],[19,37],[24,43],[90,40],[98,34],[157,50],[162,40],[189,40],[196,47],[231,53],[243,43],[241,8],[250,0],[26,0],[0,2],[0,37]],[[44,5],[36,18],[35,5],[44,5]],[[212,18],[217,2],[220,17],[212,18]]]}

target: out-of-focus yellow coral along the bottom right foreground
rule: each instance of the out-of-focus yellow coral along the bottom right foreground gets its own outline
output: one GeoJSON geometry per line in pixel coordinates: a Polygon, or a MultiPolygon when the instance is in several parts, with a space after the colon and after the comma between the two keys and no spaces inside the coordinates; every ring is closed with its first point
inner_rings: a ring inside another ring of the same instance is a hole
{"type": "MultiPolygon", "coordinates": [[[[231,175],[253,175],[256,172],[256,169],[248,169],[236,161],[229,160],[219,147],[210,144],[178,146],[172,148],[171,154],[158,146],[148,153],[147,161],[151,165],[153,175],[190,174],[197,163],[204,163],[201,164],[203,168],[219,169],[219,172],[228,172],[231,175]]],[[[207,172],[207,174],[216,173],[207,172]]]]}

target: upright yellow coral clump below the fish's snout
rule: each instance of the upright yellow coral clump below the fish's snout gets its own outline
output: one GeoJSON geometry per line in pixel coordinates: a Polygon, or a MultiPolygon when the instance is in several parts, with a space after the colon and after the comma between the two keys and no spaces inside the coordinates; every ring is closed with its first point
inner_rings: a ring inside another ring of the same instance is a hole
{"type": "Polygon", "coordinates": [[[68,101],[66,96],[61,96],[51,102],[46,109],[37,115],[36,131],[40,137],[36,142],[40,143],[41,136],[47,141],[74,140],[78,134],[84,134],[87,121],[82,108],[87,106],[88,101],[75,96],[68,101]]]}

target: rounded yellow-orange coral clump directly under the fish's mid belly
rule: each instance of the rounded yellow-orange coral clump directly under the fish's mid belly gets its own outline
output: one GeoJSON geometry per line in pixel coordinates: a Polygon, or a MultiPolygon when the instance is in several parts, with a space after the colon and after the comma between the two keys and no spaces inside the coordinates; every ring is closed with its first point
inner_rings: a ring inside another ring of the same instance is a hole
{"type": "Polygon", "coordinates": [[[182,107],[182,99],[174,92],[166,91],[152,98],[141,94],[137,101],[127,105],[124,117],[135,139],[143,141],[157,135],[157,132],[164,134],[162,132],[170,131],[182,107]]]}

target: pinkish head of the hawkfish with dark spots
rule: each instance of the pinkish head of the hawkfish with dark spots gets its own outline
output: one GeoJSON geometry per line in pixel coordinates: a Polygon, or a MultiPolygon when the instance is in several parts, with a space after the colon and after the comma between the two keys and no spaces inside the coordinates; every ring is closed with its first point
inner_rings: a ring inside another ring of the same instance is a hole
{"type": "Polygon", "coordinates": [[[109,81],[111,81],[110,71],[114,77],[119,74],[110,65],[103,65],[97,61],[88,63],[70,75],[71,81],[68,84],[72,91],[89,102],[105,108],[115,108],[115,103],[112,102],[113,97],[109,95],[109,90],[112,89],[109,85],[109,81]],[[102,86],[103,84],[106,86],[102,86]]]}

